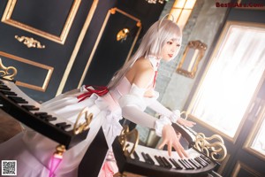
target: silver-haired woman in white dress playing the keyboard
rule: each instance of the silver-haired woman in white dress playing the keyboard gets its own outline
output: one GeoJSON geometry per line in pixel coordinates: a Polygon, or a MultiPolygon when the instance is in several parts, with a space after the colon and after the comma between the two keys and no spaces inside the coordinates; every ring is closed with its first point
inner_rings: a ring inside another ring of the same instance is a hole
{"type": "MultiPolygon", "coordinates": [[[[123,117],[143,127],[155,128],[156,134],[163,138],[159,148],[167,144],[169,154],[174,148],[180,158],[187,157],[171,122],[178,121],[188,127],[193,127],[194,123],[181,119],[178,111],[171,112],[157,102],[158,93],[154,91],[160,60],[170,61],[177,56],[181,37],[174,22],[159,20],[148,29],[133,57],[115,74],[105,95],[99,96],[93,88],[83,86],[42,104],[49,112],[72,122],[84,107],[94,114],[87,139],[64,152],[54,176],[77,176],[79,162],[100,127],[111,149],[111,143],[122,129],[118,120],[123,117]],[[161,119],[145,113],[147,107],[161,114],[161,119]]],[[[48,176],[50,157],[56,146],[57,142],[27,130],[0,145],[0,159],[18,160],[18,176],[48,176]]],[[[106,164],[103,169],[105,167],[106,164]]],[[[106,173],[102,171],[100,175],[106,173]]]]}

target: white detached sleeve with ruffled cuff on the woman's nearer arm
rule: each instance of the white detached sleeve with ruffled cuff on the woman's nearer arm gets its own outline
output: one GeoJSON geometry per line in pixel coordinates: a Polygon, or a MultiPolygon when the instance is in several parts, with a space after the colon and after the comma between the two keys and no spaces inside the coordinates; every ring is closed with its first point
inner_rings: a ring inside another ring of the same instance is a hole
{"type": "Polygon", "coordinates": [[[119,99],[119,105],[122,109],[122,115],[125,119],[139,124],[143,127],[155,128],[156,135],[162,135],[163,126],[170,122],[161,122],[160,119],[148,115],[144,112],[147,104],[144,100],[146,89],[140,89],[133,84],[130,92],[119,99]]]}

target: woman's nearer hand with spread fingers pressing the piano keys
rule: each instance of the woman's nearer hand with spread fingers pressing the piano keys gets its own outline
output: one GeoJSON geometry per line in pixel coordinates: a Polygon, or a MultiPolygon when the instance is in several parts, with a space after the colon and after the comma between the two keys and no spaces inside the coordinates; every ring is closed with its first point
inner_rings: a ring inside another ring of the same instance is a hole
{"type": "Polygon", "coordinates": [[[168,152],[171,156],[171,150],[172,147],[178,152],[178,156],[180,158],[188,157],[186,150],[182,147],[182,145],[179,142],[178,135],[176,134],[173,127],[170,125],[163,126],[162,130],[162,138],[163,142],[160,143],[158,146],[158,149],[162,149],[165,144],[168,145],[168,152]]]}

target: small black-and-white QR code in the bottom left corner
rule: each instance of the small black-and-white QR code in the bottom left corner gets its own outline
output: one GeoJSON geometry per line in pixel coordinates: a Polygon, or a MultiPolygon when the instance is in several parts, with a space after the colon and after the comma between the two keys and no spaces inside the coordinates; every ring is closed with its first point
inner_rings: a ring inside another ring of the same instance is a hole
{"type": "Polygon", "coordinates": [[[2,175],[17,175],[17,160],[2,160],[2,175]]]}

